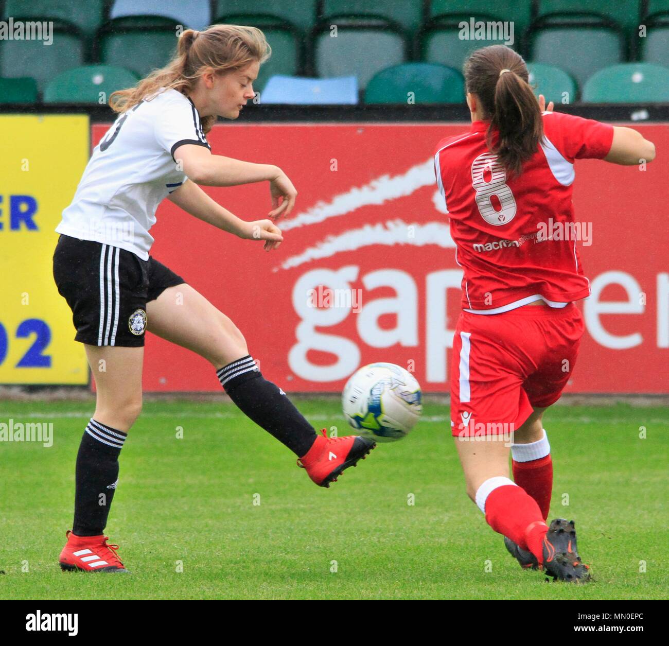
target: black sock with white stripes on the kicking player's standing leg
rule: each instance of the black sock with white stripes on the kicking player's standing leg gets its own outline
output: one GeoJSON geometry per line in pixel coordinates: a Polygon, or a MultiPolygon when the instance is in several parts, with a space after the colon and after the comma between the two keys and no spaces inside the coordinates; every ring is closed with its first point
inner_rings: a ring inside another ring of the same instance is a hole
{"type": "Polygon", "coordinates": [[[126,436],[94,419],[88,422],[77,454],[72,526],[76,536],[104,532],[118,481],[118,454],[126,436]]]}

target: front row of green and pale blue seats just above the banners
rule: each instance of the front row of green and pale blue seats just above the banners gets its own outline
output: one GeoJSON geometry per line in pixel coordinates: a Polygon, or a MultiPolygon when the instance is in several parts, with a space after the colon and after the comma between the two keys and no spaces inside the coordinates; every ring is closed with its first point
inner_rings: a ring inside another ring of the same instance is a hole
{"type": "MultiPolygon", "coordinates": [[[[557,104],[577,100],[577,85],[560,68],[529,63],[537,94],[557,104]]],[[[138,77],[124,68],[90,65],[62,72],[45,88],[45,103],[106,104],[114,90],[132,86],[138,77]]],[[[0,78],[1,103],[37,101],[33,78],[0,78]]],[[[585,82],[581,101],[591,103],[669,102],[669,68],[650,63],[624,63],[599,70],[585,82]]],[[[260,94],[263,103],[357,104],[355,76],[309,79],[277,75],[260,94]]],[[[364,92],[367,104],[458,104],[464,102],[459,70],[435,63],[405,63],[377,72],[364,92]]]]}

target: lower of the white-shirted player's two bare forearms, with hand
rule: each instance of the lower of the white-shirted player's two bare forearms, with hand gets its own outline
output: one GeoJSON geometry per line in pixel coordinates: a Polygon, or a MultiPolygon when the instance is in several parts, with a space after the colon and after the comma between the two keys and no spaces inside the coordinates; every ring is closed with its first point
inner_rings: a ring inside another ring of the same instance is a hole
{"type": "Polygon", "coordinates": [[[246,222],[211,199],[197,184],[187,179],[168,199],[198,220],[207,222],[246,240],[264,240],[265,250],[278,248],[284,239],[272,220],[246,222]]]}

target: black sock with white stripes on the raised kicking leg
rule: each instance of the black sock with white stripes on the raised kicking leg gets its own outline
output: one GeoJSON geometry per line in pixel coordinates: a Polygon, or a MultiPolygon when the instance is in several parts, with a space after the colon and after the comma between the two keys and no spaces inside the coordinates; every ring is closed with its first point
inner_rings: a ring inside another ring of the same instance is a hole
{"type": "Polygon", "coordinates": [[[286,393],[260,374],[251,355],[232,361],[216,374],[238,408],[297,457],[302,457],[311,448],[316,431],[286,393]]]}

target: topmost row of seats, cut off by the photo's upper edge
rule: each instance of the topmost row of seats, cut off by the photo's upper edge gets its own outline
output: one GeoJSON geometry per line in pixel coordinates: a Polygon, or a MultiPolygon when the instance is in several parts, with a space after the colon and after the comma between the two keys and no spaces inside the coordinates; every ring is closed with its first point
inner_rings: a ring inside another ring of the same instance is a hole
{"type": "Polygon", "coordinates": [[[412,35],[434,19],[458,15],[513,21],[519,35],[533,21],[573,14],[605,17],[631,33],[669,13],[669,0],[0,0],[0,6],[3,19],[60,19],[88,37],[109,19],[128,15],[161,15],[193,29],[228,15],[272,15],[302,33],[333,15],[374,16],[412,35]]]}

